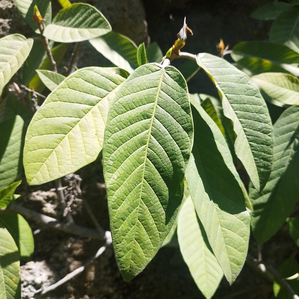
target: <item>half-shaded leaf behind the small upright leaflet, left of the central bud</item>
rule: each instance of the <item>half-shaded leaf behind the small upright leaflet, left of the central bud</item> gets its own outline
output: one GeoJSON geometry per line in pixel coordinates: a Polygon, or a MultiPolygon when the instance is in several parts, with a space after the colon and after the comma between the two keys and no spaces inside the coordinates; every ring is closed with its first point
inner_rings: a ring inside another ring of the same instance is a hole
{"type": "Polygon", "coordinates": [[[138,67],[137,46],[127,36],[115,32],[89,40],[104,57],[130,73],[138,67]]]}

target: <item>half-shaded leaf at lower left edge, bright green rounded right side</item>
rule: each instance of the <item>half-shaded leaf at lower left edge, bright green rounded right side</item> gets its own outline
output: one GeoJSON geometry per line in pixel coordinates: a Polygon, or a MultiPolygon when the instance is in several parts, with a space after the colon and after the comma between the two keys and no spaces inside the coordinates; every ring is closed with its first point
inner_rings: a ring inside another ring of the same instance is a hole
{"type": "Polygon", "coordinates": [[[34,240],[28,222],[15,212],[0,214],[0,223],[13,237],[21,259],[30,261],[34,251],[34,240]]]}

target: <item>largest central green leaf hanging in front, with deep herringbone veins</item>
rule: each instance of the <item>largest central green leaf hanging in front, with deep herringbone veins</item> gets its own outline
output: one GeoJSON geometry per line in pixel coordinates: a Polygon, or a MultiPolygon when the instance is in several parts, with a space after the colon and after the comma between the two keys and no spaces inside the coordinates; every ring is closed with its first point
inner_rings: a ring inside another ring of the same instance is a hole
{"type": "Polygon", "coordinates": [[[176,219],[192,140],[180,72],[137,68],[111,104],[103,147],[112,242],[126,281],[155,256],[176,219]]]}

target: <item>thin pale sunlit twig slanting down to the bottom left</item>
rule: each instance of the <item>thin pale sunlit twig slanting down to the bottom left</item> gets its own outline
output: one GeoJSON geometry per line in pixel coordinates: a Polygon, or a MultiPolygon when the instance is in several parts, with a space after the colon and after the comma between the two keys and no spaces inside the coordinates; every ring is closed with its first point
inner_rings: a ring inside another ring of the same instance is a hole
{"type": "Polygon", "coordinates": [[[97,257],[99,257],[111,243],[112,243],[111,234],[109,231],[106,231],[106,243],[97,251],[96,254],[94,254],[92,257],[90,257],[90,259],[88,261],[86,261],[86,263],[84,263],[83,266],[81,266],[80,268],[74,270],[73,272],[65,275],[65,277],[63,277],[57,283],[54,283],[51,286],[48,286],[44,289],[39,289],[38,291],[34,292],[34,294],[41,293],[43,295],[47,292],[50,292],[50,291],[56,289],[57,287],[61,286],[63,283],[67,282],[68,280],[71,280],[73,277],[75,277],[76,275],[81,273],[86,268],[86,266],[88,266],[92,261],[94,261],[97,257]]]}

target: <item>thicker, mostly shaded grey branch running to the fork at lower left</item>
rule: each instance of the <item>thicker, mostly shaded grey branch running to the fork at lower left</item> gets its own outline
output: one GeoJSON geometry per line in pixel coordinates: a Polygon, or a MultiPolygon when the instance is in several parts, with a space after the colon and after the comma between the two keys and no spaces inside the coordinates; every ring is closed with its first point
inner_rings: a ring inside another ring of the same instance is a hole
{"type": "Polygon", "coordinates": [[[75,223],[60,222],[55,218],[24,208],[16,204],[15,202],[11,205],[10,210],[13,210],[16,213],[19,213],[23,216],[34,219],[36,221],[40,221],[48,226],[55,227],[61,231],[65,231],[69,234],[79,235],[83,237],[90,237],[93,239],[100,239],[100,240],[105,239],[106,232],[100,234],[98,231],[92,228],[85,228],[75,223]]]}

